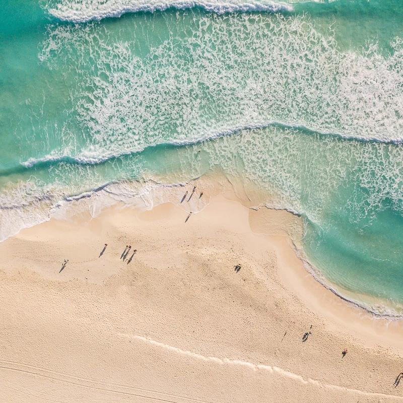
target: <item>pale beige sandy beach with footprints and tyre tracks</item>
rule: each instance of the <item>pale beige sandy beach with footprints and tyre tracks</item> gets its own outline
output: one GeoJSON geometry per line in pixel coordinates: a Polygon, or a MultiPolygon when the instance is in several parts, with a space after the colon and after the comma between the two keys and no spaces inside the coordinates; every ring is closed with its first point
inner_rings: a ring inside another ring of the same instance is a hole
{"type": "Polygon", "coordinates": [[[324,289],[272,218],[221,195],[0,244],[0,401],[403,402],[400,323],[324,289]]]}

